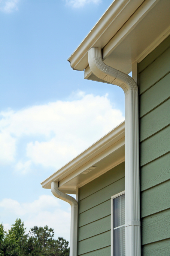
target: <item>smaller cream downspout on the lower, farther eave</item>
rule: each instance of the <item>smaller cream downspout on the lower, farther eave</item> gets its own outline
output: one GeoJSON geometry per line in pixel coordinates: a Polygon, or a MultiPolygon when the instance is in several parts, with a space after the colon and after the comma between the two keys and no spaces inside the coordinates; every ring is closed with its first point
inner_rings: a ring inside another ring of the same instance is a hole
{"type": "Polygon", "coordinates": [[[71,205],[71,226],[70,226],[70,256],[77,256],[77,223],[78,223],[78,203],[74,199],[58,188],[58,182],[51,183],[51,192],[53,195],[71,205]]]}

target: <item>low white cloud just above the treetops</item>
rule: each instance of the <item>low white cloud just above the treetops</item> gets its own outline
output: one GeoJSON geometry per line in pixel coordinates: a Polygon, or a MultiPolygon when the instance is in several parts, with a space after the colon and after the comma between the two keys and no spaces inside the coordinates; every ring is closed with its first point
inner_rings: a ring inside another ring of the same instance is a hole
{"type": "MultiPolygon", "coordinates": [[[[44,227],[48,225],[54,229],[56,238],[63,236],[69,241],[70,207],[68,207],[67,211],[62,210],[59,201],[54,196],[48,195],[41,195],[38,200],[32,203],[19,203],[16,200],[5,198],[0,202],[1,214],[10,214],[16,218],[21,218],[27,228],[27,232],[33,226],[44,227]]],[[[11,227],[9,223],[5,223],[4,226],[6,229],[11,227]]]]}

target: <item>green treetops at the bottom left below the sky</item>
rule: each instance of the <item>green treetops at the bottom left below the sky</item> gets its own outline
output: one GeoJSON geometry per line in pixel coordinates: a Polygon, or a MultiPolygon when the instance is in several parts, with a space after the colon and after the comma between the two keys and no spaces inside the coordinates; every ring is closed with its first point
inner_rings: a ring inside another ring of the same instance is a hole
{"type": "Polygon", "coordinates": [[[29,234],[21,219],[16,219],[8,232],[0,223],[1,256],[69,256],[68,241],[53,238],[54,231],[48,226],[34,226],[29,234]]]}

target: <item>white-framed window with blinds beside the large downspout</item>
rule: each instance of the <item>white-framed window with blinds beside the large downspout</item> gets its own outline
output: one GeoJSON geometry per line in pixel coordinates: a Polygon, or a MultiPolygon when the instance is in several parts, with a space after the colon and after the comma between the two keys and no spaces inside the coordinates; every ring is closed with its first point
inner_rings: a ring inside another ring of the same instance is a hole
{"type": "Polygon", "coordinates": [[[125,191],[111,197],[111,256],[125,256],[125,191]]]}

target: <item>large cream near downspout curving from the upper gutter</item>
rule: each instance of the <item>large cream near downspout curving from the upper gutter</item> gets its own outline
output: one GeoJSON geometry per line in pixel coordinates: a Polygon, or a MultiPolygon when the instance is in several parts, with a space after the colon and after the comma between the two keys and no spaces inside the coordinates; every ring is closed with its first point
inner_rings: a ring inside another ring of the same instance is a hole
{"type": "Polygon", "coordinates": [[[88,52],[91,71],[98,78],[120,86],[125,93],[125,242],[126,256],[141,255],[138,87],[127,74],[102,61],[101,48],[88,52]]]}

